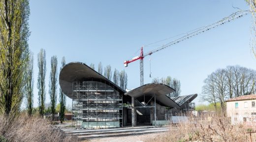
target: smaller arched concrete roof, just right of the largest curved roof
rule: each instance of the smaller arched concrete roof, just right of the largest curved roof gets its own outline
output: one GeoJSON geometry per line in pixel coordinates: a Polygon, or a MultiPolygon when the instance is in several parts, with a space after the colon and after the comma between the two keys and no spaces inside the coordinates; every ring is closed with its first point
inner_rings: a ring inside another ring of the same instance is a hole
{"type": "Polygon", "coordinates": [[[171,87],[160,83],[149,83],[133,89],[125,95],[132,97],[139,97],[141,95],[156,95],[156,100],[162,103],[164,106],[180,108],[180,106],[173,101],[167,94],[174,92],[171,87]]]}

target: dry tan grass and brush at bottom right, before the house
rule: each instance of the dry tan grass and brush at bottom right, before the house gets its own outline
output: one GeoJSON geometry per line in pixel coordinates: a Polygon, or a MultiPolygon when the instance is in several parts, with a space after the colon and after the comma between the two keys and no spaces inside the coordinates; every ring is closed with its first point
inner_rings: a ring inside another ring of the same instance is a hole
{"type": "MultiPolygon", "coordinates": [[[[231,125],[224,117],[191,118],[188,122],[170,125],[170,130],[148,142],[250,142],[248,131],[255,126],[231,125]]],[[[252,134],[253,142],[256,135],[252,134]]]]}

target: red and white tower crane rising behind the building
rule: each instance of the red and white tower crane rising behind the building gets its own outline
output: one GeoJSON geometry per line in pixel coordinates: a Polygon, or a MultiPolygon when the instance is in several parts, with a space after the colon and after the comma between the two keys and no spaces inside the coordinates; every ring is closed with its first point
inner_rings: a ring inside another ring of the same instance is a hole
{"type": "Polygon", "coordinates": [[[144,85],[144,71],[143,71],[143,59],[144,57],[148,56],[148,55],[151,55],[153,53],[156,53],[162,49],[165,49],[166,47],[170,47],[170,46],[173,46],[175,44],[178,44],[184,40],[187,40],[193,36],[196,36],[198,34],[201,34],[201,33],[204,33],[210,29],[213,29],[217,26],[220,26],[222,24],[225,24],[227,22],[230,22],[232,20],[235,20],[235,19],[238,19],[238,18],[241,18],[243,17],[244,15],[247,15],[249,14],[250,11],[249,9],[248,10],[244,10],[244,11],[237,11],[235,13],[232,13],[231,15],[229,15],[228,17],[225,17],[223,18],[222,20],[216,22],[216,23],[213,23],[213,24],[209,24],[209,25],[205,25],[203,27],[200,27],[200,28],[197,28],[196,30],[193,30],[192,32],[188,32],[185,36],[182,36],[170,43],[167,43],[165,45],[162,45],[156,49],[153,49],[145,54],[143,54],[143,47],[140,48],[140,55],[139,56],[136,56],[134,58],[132,58],[131,60],[127,60],[124,62],[124,65],[125,67],[128,67],[128,64],[131,63],[131,62],[134,62],[136,60],[140,60],[140,86],[144,85]]]}

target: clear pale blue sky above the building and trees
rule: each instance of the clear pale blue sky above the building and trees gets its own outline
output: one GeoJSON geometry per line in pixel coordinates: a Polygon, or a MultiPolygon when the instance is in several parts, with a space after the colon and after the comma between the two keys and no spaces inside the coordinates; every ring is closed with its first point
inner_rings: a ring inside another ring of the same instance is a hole
{"type": "MultiPolygon", "coordinates": [[[[134,89],[140,86],[139,61],[126,68],[123,62],[138,56],[141,46],[215,23],[239,10],[234,7],[249,8],[244,0],[30,0],[34,106],[38,106],[37,54],[41,48],[46,51],[46,103],[54,55],[59,67],[64,56],[66,63],[94,63],[97,69],[101,62],[103,67],[125,70],[128,89],[134,89]]],[[[204,103],[200,97],[208,74],[228,65],[256,70],[251,26],[252,17],[247,15],[145,57],[144,84],[153,79],[149,77],[151,60],[153,77],[179,79],[181,95],[198,94],[194,102],[204,103]]],[[[144,52],[176,38],[144,47],[144,52]]],[[[67,98],[67,105],[71,102],[67,98]]]]}

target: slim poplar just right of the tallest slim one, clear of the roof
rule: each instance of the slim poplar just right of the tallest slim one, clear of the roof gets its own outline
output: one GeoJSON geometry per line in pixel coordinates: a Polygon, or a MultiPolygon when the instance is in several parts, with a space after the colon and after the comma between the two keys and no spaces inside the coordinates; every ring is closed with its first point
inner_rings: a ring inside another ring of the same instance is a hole
{"type": "Polygon", "coordinates": [[[51,72],[50,72],[50,83],[49,83],[49,94],[51,98],[51,114],[52,120],[54,120],[56,102],[57,102],[57,77],[58,77],[58,60],[57,56],[51,58],[51,72]]]}

